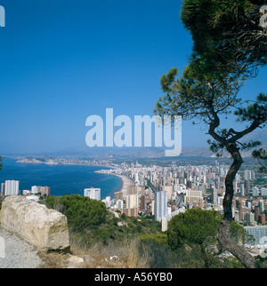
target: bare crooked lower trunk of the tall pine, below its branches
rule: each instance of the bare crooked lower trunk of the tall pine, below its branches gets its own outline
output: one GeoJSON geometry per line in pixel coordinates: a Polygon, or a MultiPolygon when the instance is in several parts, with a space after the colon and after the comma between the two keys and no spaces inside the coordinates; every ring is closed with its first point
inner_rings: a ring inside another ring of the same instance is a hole
{"type": "Polygon", "coordinates": [[[219,234],[218,240],[223,246],[223,249],[231,252],[233,256],[239,259],[239,261],[246,268],[259,268],[257,263],[255,262],[255,258],[253,258],[247,250],[238,243],[234,242],[230,238],[230,228],[232,221],[232,200],[234,195],[233,189],[233,180],[237,172],[239,171],[243,160],[239,153],[239,148],[236,147],[235,144],[230,144],[227,147],[228,152],[233,157],[233,163],[231,164],[231,168],[228,171],[225,178],[225,196],[223,199],[223,222],[219,226],[219,234]]]}

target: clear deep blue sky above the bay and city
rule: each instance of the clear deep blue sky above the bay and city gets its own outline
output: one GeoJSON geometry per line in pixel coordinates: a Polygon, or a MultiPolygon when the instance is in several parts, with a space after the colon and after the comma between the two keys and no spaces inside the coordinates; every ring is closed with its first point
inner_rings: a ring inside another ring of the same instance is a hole
{"type": "MultiPolygon", "coordinates": [[[[0,0],[0,153],[86,148],[89,115],[153,115],[160,76],[182,71],[190,33],[179,0],[0,0]]],[[[266,68],[240,95],[264,91],[266,68]]],[[[182,122],[182,146],[206,146],[182,122]]]]}

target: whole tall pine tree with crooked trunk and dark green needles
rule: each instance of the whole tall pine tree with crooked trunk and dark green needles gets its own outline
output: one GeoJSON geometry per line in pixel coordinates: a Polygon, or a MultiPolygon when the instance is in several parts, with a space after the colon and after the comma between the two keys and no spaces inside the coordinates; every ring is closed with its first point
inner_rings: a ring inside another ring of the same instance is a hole
{"type": "Polygon", "coordinates": [[[226,150],[232,158],[225,179],[223,221],[218,239],[225,250],[239,258],[246,267],[258,267],[255,259],[233,242],[231,235],[233,180],[243,158],[241,150],[261,145],[259,141],[240,139],[262,128],[267,118],[267,95],[260,93],[253,103],[239,98],[245,80],[257,75],[258,67],[267,63],[266,28],[259,25],[262,1],[184,0],[182,21],[194,40],[188,66],[181,76],[172,68],[161,77],[166,93],[158,99],[155,114],[181,115],[184,120],[197,120],[206,125],[211,150],[218,156],[226,150]],[[246,122],[242,131],[223,129],[222,117],[237,116],[246,122]]]}

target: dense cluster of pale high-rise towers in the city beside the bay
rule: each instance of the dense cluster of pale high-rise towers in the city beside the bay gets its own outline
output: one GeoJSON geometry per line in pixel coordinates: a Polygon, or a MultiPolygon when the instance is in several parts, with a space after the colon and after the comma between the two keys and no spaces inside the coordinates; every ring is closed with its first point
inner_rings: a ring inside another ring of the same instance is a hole
{"type": "MultiPolygon", "coordinates": [[[[218,162],[214,166],[177,166],[173,163],[170,167],[123,163],[109,172],[127,177],[132,184],[115,193],[114,199],[109,200],[109,207],[128,216],[154,215],[162,222],[163,230],[170,218],[186,209],[223,213],[224,181],[228,170],[228,165],[218,162]]],[[[233,218],[244,226],[265,227],[267,188],[255,186],[255,171],[239,171],[233,187],[233,218]]]]}

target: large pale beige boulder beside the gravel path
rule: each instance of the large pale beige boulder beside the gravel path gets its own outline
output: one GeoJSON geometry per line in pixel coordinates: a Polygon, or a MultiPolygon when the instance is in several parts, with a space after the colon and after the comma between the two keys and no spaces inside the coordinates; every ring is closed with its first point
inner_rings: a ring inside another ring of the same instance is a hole
{"type": "Polygon", "coordinates": [[[61,212],[49,210],[23,196],[13,195],[4,199],[0,224],[38,250],[69,249],[67,218],[61,212]]]}

